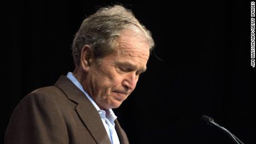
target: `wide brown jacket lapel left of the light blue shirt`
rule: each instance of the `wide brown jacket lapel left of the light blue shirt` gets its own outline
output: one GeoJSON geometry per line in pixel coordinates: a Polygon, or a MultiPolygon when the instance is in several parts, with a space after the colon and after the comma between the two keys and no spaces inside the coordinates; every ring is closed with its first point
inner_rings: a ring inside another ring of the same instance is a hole
{"type": "Polygon", "coordinates": [[[85,94],[79,90],[79,88],[77,88],[66,76],[61,76],[55,83],[55,86],[61,88],[61,90],[66,93],[66,96],[71,101],[77,103],[76,112],[95,141],[97,143],[111,144],[99,113],[85,94]]]}

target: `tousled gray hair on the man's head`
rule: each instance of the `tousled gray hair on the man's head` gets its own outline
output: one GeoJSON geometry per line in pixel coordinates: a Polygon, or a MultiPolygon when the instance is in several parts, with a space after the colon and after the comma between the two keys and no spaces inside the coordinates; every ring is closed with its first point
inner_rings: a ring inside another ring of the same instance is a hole
{"type": "Polygon", "coordinates": [[[120,5],[100,8],[96,13],[83,20],[72,44],[73,61],[80,64],[81,49],[88,44],[96,59],[103,58],[114,51],[116,39],[125,29],[140,31],[154,48],[154,40],[148,31],[129,10],[120,5]]]}

